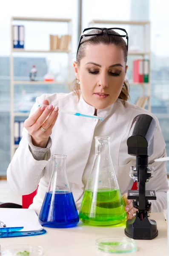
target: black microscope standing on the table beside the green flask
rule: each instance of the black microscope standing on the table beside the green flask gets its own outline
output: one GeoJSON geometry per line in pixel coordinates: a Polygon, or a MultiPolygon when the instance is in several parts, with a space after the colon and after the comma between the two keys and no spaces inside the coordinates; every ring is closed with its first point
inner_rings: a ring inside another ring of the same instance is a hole
{"type": "Polygon", "coordinates": [[[125,234],[133,239],[154,239],[158,236],[157,223],[148,218],[151,203],[156,200],[155,190],[146,190],[146,182],[154,175],[154,169],[148,167],[148,157],[153,154],[156,122],[147,114],[140,114],[133,119],[127,139],[128,154],[136,156],[136,167],[129,173],[138,190],[128,190],[128,199],[133,199],[133,207],[137,209],[134,219],[126,221],[125,234]]]}

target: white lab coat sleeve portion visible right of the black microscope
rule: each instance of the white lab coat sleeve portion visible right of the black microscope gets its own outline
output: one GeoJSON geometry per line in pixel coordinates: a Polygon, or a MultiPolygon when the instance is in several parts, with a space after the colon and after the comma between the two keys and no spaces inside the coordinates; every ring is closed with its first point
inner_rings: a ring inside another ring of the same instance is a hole
{"type": "MultiPolygon", "coordinates": [[[[154,117],[154,116],[153,116],[154,117]]],[[[155,118],[155,117],[154,117],[155,118]]],[[[146,190],[155,190],[157,200],[152,200],[152,212],[163,212],[167,205],[167,194],[169,189],[166,175],[166,162],[155,162],[156,158],[166,157],[165,142],[160,130],[158,119],[155,118],[157,128],[154,134],[154,150],[151,157],[149,157],[149,167],[154,167],[155,176],[146,183],[146,190]]]]}

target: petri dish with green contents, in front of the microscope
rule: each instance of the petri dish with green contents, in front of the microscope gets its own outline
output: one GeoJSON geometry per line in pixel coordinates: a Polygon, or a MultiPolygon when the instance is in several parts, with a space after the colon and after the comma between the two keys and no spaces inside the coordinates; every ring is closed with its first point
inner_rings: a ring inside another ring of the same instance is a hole
{"type": "Polygon", "coordinates": [[[106,253],[131,253],[137,250],[135,240],[127,237],[103,237],[96,240],[96,247],[106,253]]]}

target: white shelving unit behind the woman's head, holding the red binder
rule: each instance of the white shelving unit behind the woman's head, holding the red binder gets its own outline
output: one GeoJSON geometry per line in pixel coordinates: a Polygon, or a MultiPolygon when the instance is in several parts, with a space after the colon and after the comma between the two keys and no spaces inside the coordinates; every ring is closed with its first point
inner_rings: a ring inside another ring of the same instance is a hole
{"type": "MultiPolygon", "coordinates": [[[[125,20],[91,20],[89,22],[89,27],[96,27],[96,24],[106,24],[106,25],[111,25],[111,27],[113,27],[113,25],[137,25],[137,26],[143,26],[143,51],[142,52],[137,52],[137,51],[132,51],[132,52],[128,52],[128,55],[133,55],[133,56],[140,56],[143,59],[146,57],[149,59],[149,67],[150,67],[150,61],[151,61],[151,52],[150,52],[150,22],[149,21],[125,21],[125,20]],[[146,26],[148,28],[148,41],[146,42],[145,38],[146,38],[146,26]],[[146,47],[147,44],[147,47],[146,47]],[[148,51],[146,51],[146,49],[148,49],[148,51]]],[[[110,27],[110,26],[109,26],[110,27]]],[[[130,43],[130,38],[129,38],[129,43],[130,43]]],[[[148,83],[133,83],[130,82],[130,85],[139,85],[142,87],[142,96],[148,96],[148,110],[151,111],[151,80],[150,80],[150,70],[149,70],[149,82],[148,83]],[[147,86],[147,94],[146,92],[146,87],[147,86]]]]}

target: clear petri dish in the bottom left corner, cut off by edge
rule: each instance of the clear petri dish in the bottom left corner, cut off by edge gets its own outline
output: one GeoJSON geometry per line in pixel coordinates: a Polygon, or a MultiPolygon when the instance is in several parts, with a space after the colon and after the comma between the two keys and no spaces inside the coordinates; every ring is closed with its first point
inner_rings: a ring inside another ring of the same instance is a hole
{"type": "Polygon", "coordinates": [[[43,248],[41,246],[29,244],[15,244],[2,247],[0,249],[1,256],[43,256],[43,248]]]}

